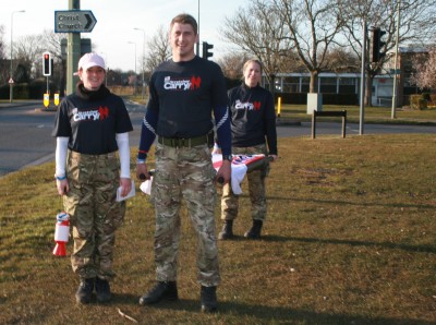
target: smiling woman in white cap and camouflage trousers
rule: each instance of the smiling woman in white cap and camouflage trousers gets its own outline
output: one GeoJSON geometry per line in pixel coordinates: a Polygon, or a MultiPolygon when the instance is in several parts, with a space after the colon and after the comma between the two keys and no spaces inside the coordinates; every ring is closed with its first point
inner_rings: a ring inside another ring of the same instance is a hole
{"type": "Polygon", "coordinates": [[[73,228],[71,264],[80,278],[76,301],[89,303],[95,289],[97,301],[107,302],[109,280],[114,277],[114,232],[125,213],[125,202],[116,201],[117,189],[121,185],[125,196],[132,186],[129,132],[133,127],[122,98],[104,85],[100,56],[84,55],[77,74],[75,94],[62,100],[55,120],[55,178],[73,228]]]}

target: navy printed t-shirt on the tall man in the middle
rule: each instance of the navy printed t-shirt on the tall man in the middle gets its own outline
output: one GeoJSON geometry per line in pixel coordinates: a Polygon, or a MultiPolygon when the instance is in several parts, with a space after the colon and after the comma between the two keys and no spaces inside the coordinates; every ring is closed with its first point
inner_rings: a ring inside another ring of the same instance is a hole
{"type": "Polygon", "coordinates": [[[211,110],[227,107],[227,89],[218,64],[195,57],[160,64],[152,75],[147,109],[158,113],[156,133],[195,137],[213,129],[211,110]]]}

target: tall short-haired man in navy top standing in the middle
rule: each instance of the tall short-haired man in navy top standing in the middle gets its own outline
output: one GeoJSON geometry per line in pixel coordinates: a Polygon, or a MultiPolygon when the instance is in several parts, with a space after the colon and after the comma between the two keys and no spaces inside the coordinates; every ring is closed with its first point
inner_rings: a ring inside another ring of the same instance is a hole
{"type": "Polygon", "coordinates": [[[197,279],[203,312],[217,310],[216,288],[220,281],[214,210],[214,181],[230,179],[231,140],[226,83],[218,64],[195,56],[197,23],[179,14],[170,24],[172,59],[152,75],[149,101],[142,125],[136,176],[148,178],[147,153],[157,136],[156,172],[152,200],[156,212],[155,262],[157,284],[140,304],[177,300],[177,267],[180,240],[180,208],[186,203],[198,239],[197,279]],[[214,125],[222,147],[218,172],[211,164],[214,125]]]}

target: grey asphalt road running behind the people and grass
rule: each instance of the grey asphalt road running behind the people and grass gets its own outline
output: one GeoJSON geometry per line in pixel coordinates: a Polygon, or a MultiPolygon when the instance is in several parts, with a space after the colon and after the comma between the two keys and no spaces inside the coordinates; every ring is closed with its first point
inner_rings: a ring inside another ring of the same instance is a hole
{"type": "MultiPolygon", "coordinates": [[[[134,131],[130,134],[131,146],[140,144],[141,123],[145,107],[126,103],[134,131]]],[[[40,165],[55,159],[55,139],[51,136],[55,111],[43,108],[40,101],[0,106],[0,177],[27,166],[40,165]]],[[[279,137],[312,136],[312,123],[278,123],[279,137]]],[[[364,134],[384,133],[436,133],[436,128],[422,125],[365,124],[364,134]]],[[[341,123],[316,123],[316,134],[341,135],[341,123]]],[[[359,134],[359,124],[348,123],[347,134],[359,134]]]]}

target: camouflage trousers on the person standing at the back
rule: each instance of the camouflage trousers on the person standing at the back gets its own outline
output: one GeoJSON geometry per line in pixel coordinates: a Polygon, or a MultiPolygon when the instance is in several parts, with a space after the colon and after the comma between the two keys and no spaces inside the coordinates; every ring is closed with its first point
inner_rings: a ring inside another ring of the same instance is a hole
{"type": "MultiPolygon", "coordinates": [[[[232,147],[233,155],[258,155],[267,154],[265,145],[252,147],[232,147]]],[[[251,215],[253,220],[266,219],[265,178],[269,173],[269,162],[264,167],[246,173],[249,180],[250,201],[252,203],[251,215]]],[[[222,188],[221,196],[221,219],[234,220],[239,210],[239,196],[234,195],[231,185],[228,183],[222,188]]]]}

